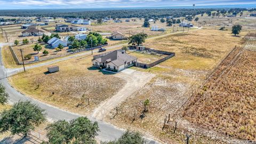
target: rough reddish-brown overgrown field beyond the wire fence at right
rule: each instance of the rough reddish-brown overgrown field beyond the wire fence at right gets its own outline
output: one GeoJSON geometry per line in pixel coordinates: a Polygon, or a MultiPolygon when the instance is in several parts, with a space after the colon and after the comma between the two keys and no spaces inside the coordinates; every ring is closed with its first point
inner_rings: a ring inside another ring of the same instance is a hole
{"type": "Polygon", "coordinates": [[[255,56],[256,52],[250,50],[230,54],[228,61],[193,95],[184,117],[206,129],[255,141],[255,56]]]}

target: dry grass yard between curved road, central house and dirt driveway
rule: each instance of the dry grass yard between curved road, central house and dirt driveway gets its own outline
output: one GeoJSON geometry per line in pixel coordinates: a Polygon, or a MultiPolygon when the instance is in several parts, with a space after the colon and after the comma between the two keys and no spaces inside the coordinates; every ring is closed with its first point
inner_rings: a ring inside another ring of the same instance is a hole
{"type": "Polygon", "coordinates": [[[125,83],[109,73],[101,73],[98,69],[91,68],[91,59],[91,55],[86,55],[55,63],[54,65],[60,66],[60,71],[53,74],[45,73],[46,66],[29,69],[26,73],[10,77],[9,80],[19,91],[31,97],[86,115],[101,101],[118,92],[125,83]],[[83,94],[85,103],[77,108],[83,94]],[[90,100],[89,106],[87,98],[90,100]]]}

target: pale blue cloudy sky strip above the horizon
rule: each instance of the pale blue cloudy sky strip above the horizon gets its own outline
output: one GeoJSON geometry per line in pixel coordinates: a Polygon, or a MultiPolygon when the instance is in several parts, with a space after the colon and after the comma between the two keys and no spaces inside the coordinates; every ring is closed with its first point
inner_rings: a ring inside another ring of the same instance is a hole
{"type": "Polygon", "coordinates": [[[1,9],[67,9],[256,4],[256,0],[0,0],[1,9]]]}

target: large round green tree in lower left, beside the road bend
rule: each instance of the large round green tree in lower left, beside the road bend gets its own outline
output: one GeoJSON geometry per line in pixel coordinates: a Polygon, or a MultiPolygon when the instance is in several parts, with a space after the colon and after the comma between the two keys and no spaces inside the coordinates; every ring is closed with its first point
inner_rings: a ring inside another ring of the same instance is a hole
{"type": "Polygon", "coordinates": [[[12,134],[22,133],[25,137],[46,121],[45,110],[30,101],[14,103],[9,110],[4,110],[0,117],[0,131],[11,131],[12,134]]]}

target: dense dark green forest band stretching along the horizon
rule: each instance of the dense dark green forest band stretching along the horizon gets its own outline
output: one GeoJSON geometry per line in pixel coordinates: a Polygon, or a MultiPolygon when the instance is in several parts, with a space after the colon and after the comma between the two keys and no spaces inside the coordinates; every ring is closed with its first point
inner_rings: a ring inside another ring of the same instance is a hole
{"type": "MultiPolygon", "coordinates": [[[[163,18],[172,16],[174,18],[185,17],[186,15],[197,15],[223,9],[129,9],[129,10],[0,10],[2,16],[13,17],[62,17],[62,18],[90,18],[99,19],[111,18],[163,18]]],[[[230,9],[225,9],[226,11],[230,9]]],[[[246,9],[235,9],[242,11],[246,9]]]]}

